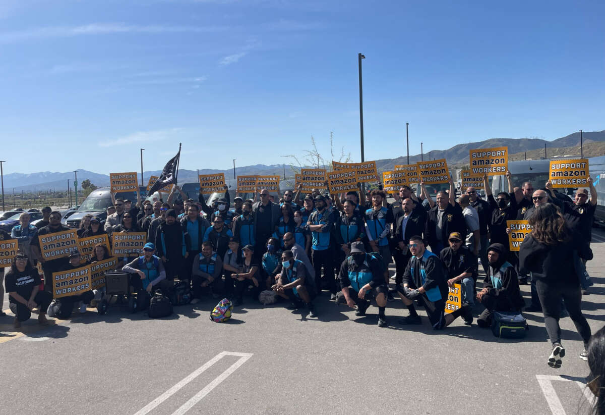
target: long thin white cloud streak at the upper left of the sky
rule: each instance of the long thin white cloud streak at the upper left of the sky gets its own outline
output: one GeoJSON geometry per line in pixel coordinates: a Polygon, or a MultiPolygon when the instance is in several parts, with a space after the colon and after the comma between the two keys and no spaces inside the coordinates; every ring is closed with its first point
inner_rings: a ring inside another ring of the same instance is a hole
{"type": "Polygon", "coordinates": [[[169,26],[129,25],[119,23],[91,23],[80,26],[38,27],[20,32],[0,33],[0,43],[14,43],[41,38],[67,38],[85,35],[112,35],[117,33],[214,33],[228,30],[226,26],[169,26]]]}

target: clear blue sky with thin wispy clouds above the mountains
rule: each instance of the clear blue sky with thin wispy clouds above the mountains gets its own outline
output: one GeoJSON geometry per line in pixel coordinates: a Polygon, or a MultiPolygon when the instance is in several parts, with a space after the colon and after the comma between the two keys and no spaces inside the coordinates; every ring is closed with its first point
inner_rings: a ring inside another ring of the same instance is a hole
{"type": "Polygon", "coordinates": [[[4,173],[359,161],[605,129],[602,1],[0,3],[4,173]],[[27,153],[24,154],[24,153],[27,153]]]}

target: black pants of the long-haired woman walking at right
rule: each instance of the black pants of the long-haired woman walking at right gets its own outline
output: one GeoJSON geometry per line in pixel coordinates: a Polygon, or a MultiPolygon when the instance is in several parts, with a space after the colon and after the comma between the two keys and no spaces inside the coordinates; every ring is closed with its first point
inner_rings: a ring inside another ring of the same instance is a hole
{"type": "Polygon", "coordinates": [[[581,310],[582,292],[580,283],[538,279],[535,282],[535,288],[538,291],[538,297],[540,297],[544,324],[551,342],[553,344],[561,342],[559,319],[561,316],[561,299],[563,299],[567,313],[574,322],[575,330],[584,340],[584,347],[587,347],[590,339],[590,326],[581,310]]]}

